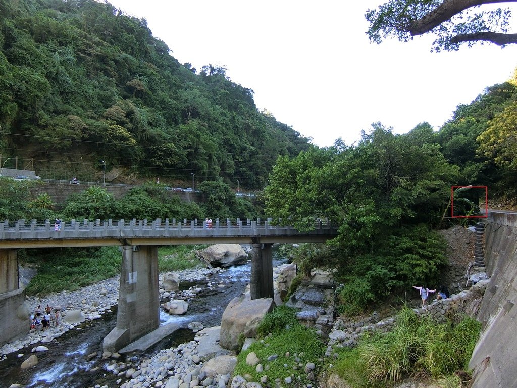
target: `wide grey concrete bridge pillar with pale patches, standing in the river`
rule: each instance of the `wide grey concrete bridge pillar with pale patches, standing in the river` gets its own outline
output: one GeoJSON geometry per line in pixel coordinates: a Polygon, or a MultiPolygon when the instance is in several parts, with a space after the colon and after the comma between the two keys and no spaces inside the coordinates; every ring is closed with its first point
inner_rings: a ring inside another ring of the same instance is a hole
{"type": "Polygon", "coordinates": [[[103,341],[104,351],[115,352],[160,325],[158,247],[122,247],[117,325],[103,341]]]}

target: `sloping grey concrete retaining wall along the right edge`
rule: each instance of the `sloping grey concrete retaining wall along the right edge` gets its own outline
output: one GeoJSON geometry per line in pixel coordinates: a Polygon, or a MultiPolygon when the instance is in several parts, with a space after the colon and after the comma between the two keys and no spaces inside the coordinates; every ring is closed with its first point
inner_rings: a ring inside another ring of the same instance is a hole
{"type": "Polygon", "coordinates": [[[483,329],[469,369],[472,388],[517,387],[517,214],[492,213],[485,229],[491,276],[477,314],[483,329]]]}

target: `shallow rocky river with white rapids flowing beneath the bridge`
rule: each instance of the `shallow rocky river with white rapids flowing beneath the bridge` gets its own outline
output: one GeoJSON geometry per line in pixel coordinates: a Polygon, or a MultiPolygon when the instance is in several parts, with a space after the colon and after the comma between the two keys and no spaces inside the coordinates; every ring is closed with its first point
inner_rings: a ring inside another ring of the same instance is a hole
{"type": "MultiPolygon", "coordinates": [[[[285,262],[275,256],[273,265],[285,262]]],[[[226,305],[240,295],[250,281],[250,264],[230,267],[221,274],[214,274],[204,280],[183,282],[180,289],[200,286],[202,291],[193,299],[187,300],[189,308],[186,315],[170,316],[160,309],[161,324],[175,323],[181,327],[169,337],[158,342],[148,350],[153,354],[160,349],[175,347],[194,338],[194,333],[187,329],[190,322],[201,322],[205,327],[219,326],[226,305]],[[222,281],[224,288],[217,285],[222,281]],[[206,287],[208,282],[216,285],[215,289],[206,287]]],[[[117,387],[119,379],[103,369],[107,360],[102,360],[102,340],[116,325],[116,307],[114,312],[105,314],[101,319],[85,322],[81,330],[71,330],[50,344],[34,344],[18,352],[10,353],[7,360],[0,362],[0,388],[8,388],[13,383],[26,385],[27,388],[84,388],[96,384],[117,387]],[[31,354],[33,347],[45,345],[49,351],[38,352],[38,365],[21,370],[23,360],[31,354]],[[86,362],[85,357],[97,352],[98,356],[86,362]],[[22,357],[18,357],[23,353],[22,357]],[[87,370],[100,367],[97,372],[87,370]]],[[[124,381],[124,380],[123,380],[124,381]]]]}

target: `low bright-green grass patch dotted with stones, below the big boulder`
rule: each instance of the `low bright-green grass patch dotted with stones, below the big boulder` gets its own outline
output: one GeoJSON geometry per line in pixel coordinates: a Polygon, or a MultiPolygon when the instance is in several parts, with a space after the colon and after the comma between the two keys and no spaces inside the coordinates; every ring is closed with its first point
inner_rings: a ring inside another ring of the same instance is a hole
{"type": "Polygon", "coordinates": [[[234,374],[249,375],[251,377],[249,381],[261,381],[261,378],[267,375],[271,386],[274,386],[274,381],[277,379],[281,383],[280,385],[283,385],[284,379],[288,376],[292,377],[290,386],[293,388],[311,383],[307,379],[305,366],[308,362],[312,362],[316,365],[317,370],[317,366],[321,364],[318,359],[323,357],[325,345],[313,330],[307,329],[296,321],[293,309],[279,306],[266,314],[264,319],[271,322],[272,319],[267,318],[268,316],[281,319],[282,327],[280,324],[264,324],[261,333],[263,335],[266,332],[271,334],[255,341],[247,350],[238,355],[234,374]],[[285,323],[289,325],[289,329],[285,328],[285,323]],[[265,330],[266,327],[268,330],[265,330]],[[259,363],[264,368],[263,372],[257,372],[255,366],[246,364],[246,357],[250,352],[255,352],[260,359],[259,363]],[[268,361],[267,359],[271,355],[277,355],[277,357],[268,361]],[[299,364],[303,366],[299,366],[299,364]]]}

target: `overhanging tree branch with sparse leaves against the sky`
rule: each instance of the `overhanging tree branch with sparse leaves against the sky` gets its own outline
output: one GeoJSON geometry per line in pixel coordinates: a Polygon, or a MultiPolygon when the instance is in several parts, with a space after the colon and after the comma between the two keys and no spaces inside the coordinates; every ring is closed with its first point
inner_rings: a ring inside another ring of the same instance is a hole
{"type": "Polygon", "coordinates": [[[481,6],[515,1],[390,0],[367,11],[365,16],[370,22],[367,34],[375,43],[387,37],[407,42],[414,36],[432,34],[436,36],[434,51],[458,50],[463,43],[471,47],[476,42],[505,46],[517,43],[517,34],[508,34],[510,10],[481,9],[481,6]]]}

